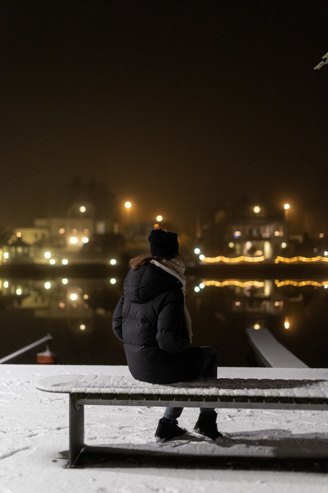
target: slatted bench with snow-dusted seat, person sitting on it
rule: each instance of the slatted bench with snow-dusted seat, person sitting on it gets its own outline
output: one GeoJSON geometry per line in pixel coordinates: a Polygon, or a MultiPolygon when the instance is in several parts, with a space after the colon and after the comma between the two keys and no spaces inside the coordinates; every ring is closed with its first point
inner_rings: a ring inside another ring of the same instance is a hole
{"type": "Polygon", "coordinates": [[[218,368],[218,379],[152,385],[127,376],[58,375],[36,387],[69,393],[69,467],[84,448],[84,406],[173,406],[328,411],[328,369],[218,368]]]}

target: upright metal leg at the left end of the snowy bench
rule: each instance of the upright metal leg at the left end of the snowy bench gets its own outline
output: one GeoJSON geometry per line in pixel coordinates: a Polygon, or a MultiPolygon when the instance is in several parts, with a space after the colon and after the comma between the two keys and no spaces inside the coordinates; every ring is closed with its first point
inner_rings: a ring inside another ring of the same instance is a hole
{"type": "Polygon", "coordinates": [[[78,406],[69,395],[68,467],[72,467],[84,447],[84,406],[78,406]]]}

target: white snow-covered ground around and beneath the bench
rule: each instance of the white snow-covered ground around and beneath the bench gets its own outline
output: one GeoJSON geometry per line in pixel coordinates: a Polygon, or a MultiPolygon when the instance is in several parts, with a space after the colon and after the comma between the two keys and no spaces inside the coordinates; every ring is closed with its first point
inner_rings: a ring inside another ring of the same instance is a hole
{"type": "Polygon", "coordinates": [[[258,470],[256,459],[252,468],[255,457],[328,458],[328,412],[320,411],[218,410],[218,428],[225,436],[215,443],[192,431],[198,410],[189,408],[179,419],[188,434],[156,443],[154,431],[162,408],[86,406],[86,444],[125,453],[140,451],[146,467],[136,466],[141,460],[137,455],[126,466],[121,456],[114,466],[90,463],[66,469],[67,394],[42,392],[35,383],[47,375],[67,373],[128,375],[128,370],[124,366],[0,365],[0,493],[328,492],[327,473],[284,467],[258,470]],[[193,467],[181,467],[179,458],[197,456],[200,462],[204,456],[217,456],[218,467],[197,468],[195,460],[190,462],[193,467]],[[224,460],[226,456],[247,459],[245,467],[239,464],[234,469],[224,460]]]}

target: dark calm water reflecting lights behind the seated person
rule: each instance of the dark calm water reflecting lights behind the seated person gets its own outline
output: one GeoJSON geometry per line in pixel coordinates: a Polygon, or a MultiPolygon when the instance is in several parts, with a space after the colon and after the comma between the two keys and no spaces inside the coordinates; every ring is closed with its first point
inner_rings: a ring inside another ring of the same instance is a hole
{"type": "MultiPolygon", "coordinates": [[[[213,346],[220,366],[251,366],[245,328],[258,324],[310,367],[326,368],[328,289],[318,285],[279,285],[275,280],[203,279],[187,281],[193,346],[213,346]],[[249,280],[252,281],[252,280],[249,280]],[[205,282],[206,283],[206,282],[205,282]],[[289,328],[285,328],[285,322],[289,328]]],[[[43,337],[59,364],[126,364],[122,344],[112,331],[112,316],[123,278],[47,280],[0,279],[0,358],[43,337]],[[17,294],[18,293],[18,294],[17,294]],[[71,295],[73,298],[71,299],[71,295]],[[74,296],[75,295],[75,296],[74,296]]],[[[306,282],[295,280],[294,283],[306,282]]],[[[12,363],[36,363],[38,347],[12,363]]]]}

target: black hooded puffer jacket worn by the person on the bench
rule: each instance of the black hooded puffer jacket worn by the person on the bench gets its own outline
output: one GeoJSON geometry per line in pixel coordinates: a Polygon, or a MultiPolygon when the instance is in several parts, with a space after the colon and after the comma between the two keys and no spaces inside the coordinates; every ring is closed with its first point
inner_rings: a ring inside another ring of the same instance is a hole
{"type": "Polygon", "coordinates": [[[113,317],[132,376],[142,382],[170,384],[198,378],[200,348],[187,348],[181,283],[163,269],[145,264],[130,270],[113,317]]]}

